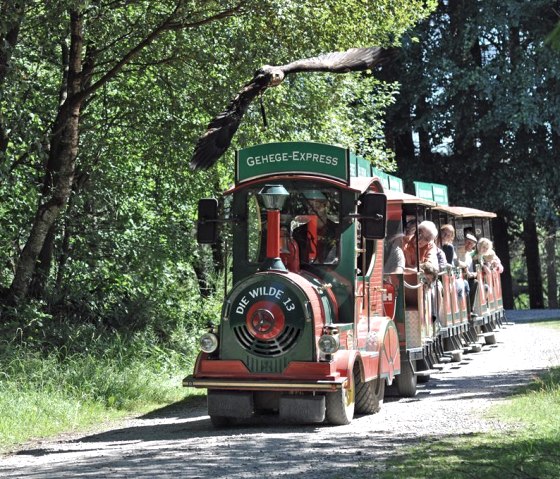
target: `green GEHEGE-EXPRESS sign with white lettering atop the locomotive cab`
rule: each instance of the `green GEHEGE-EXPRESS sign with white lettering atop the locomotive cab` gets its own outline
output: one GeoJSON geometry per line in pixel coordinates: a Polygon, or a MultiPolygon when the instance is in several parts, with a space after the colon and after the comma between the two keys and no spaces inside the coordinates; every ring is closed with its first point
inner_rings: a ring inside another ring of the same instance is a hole
{"type": "Polygon", "coordinates": [[[349,180],[348,150],[312,142],[266,143],[237,152],[236,182],[283,173],[349,180]]]}

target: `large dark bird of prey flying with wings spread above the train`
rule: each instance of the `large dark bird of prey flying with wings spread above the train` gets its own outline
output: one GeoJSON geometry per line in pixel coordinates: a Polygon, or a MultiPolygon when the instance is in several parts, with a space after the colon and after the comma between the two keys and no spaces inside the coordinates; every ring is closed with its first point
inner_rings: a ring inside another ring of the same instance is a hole
{"type": "Polygon", "coordinates": [[[229,148],[243,115],[251,102],[267,88],[277,86],[291,73],[347,73],[368,70],[394,56],[394,50],[379,47],[351,48],[345,52],[326,53],[318,57],[296,60],[287,65],[265,65],[255,72],[226,110],[208,125],[199,139],[190,162],[193,170],[210,168],[229,148]]]}

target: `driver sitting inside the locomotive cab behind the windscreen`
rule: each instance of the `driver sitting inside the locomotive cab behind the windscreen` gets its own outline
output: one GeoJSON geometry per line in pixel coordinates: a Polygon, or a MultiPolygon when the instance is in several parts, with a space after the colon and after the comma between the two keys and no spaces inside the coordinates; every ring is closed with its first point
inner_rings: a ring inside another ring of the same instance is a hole
{"type": "MultiPolygon", "coordinates": [[[[332,264],[338,261],[339,225],[330,218],[331,205],[327,197],[319,190],[305,190],[303,196],[306,199],[309,214],[303,224],[293,231],[293,238],[299,246],[300,258],[304,262],[317,262],[332,264]],[[316,218],[316,237],[311,234],[309,217],[316,218]],[[315,246],[316,257],[310,255],[311,245],[315,246]]],[[[296,218],[297,219],[297,218],[296,218]]]]}

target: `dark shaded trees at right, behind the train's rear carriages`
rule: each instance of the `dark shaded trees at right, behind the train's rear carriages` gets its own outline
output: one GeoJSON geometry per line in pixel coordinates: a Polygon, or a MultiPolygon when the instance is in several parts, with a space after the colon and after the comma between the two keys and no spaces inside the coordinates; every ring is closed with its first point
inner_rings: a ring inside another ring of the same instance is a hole
{"type": "MultiPolygon", "coordinates": [[[[405,42],[395,111],[410,120],[392,125],[393,137],[406,136],[401,144],[420,139],[411,158],[408,148],[406,164],[397,155],[402,176],[445,183],[452,202],[496,211],[502,226],[528,219],[523,238],[536,307],[542,307],[542,283],[537,230],[529,219],[538,225],[557,217],[559,204],[553,178],[560,62],[544,45],[556,21],[554,6],[545,0],[439,2],[405,42]]],[[[498,244],[507,241],[503,227],[497,232],[503,235],[498,244]]]]}

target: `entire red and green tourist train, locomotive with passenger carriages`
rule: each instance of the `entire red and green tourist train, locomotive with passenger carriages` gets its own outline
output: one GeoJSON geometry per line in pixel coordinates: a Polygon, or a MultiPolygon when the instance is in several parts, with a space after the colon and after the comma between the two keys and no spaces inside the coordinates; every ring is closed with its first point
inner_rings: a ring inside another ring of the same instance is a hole
{"type": "Polygon", "coordinates": [[[230,228],[232,276],[183,380],[208,390],[215,426],[261,414],[348,424],[496,341],[500,271],[466,251],[491,239],[495,214],[449,206],[444,185],[405,193],[399,178],[333,145],[256,145],[235,166],[223,201],[199,202],[199,243],[230,228]],[[456,258],[434,273],[422,227],[444,224],[456,258]],[[387,270],[393,247],[414,265],[387,270]]]}

